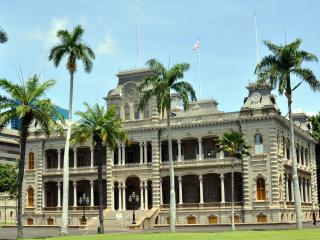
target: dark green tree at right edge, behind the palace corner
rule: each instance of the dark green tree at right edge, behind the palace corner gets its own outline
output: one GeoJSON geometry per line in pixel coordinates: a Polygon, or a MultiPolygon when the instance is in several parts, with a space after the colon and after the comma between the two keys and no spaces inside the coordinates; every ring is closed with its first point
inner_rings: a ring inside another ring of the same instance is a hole
{"type": "MultiPolygon", "coordinates": [[[[316,145],[316,164],[317,164],[317,185],[318,196],[320,196],[320,112],[308,118],[312,125],[312,136],[318,141],[316,145]]],[[[319,202],[320,199],[318,199],[319,202]]]]}

